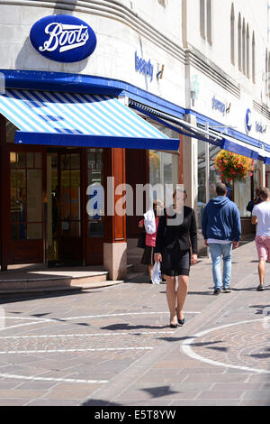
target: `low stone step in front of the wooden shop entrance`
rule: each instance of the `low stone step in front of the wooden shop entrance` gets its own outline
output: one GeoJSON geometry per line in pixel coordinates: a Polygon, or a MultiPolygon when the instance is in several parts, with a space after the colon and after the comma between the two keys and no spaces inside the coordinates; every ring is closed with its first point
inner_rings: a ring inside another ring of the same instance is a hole
{"type": "Polygon", "coordinates": [[[121,284],[109,281],[102,266],[58,267],[45,265],[10,266],[0,272],[1,294],[49,292],[58,290],[89,290],[121,284]]]}

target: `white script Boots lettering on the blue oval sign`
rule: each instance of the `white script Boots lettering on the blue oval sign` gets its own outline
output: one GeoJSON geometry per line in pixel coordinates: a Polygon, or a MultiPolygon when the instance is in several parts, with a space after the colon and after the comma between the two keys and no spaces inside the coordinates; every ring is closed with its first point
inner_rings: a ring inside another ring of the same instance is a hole
{"type": "Polygon", "coordinates": [[[56,51],[59,53],[84,46],[89,39],[88,27],[85,25],[66,25],[62,23],[49,23],[45,28],[49,40],[45,41],[39,51],[56,51]]]}

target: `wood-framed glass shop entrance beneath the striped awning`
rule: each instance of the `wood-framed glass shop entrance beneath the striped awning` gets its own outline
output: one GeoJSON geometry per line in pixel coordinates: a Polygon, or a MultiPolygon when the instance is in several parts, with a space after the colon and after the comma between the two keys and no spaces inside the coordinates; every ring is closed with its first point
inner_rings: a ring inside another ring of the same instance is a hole
{"type": "Polygon", "coordinates": [[[14,144],[16,127],[1,115],[0,130],[1,271],[25,263],[102,265],[112,217],[105,219],[96,193],[106,190],[104,169],[112,172],[110,150],[14,144]]]}

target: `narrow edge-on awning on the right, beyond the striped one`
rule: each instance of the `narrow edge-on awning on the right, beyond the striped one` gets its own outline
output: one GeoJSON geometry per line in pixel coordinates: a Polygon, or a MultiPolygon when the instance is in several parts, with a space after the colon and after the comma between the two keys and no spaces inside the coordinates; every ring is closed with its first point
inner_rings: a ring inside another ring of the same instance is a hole
{"type": "MultiPolygon", "coordinates": [[[[130,101],[130,106],[138,110],[141,114],[150,117],[157,121],[159,124],[166,125],[178,134],[184,134],[189,137],[202,140],[203,142],[211,143],[220,147],[220,149],[227,150],[246,156],[247,158],[256,159],[258,161],[264,161],[266,164],[270,164],[270,146],[261,143],[258,140],[246,137],[247,141],[238,140],[238,138],[223,134],[222,131],[216,131],[215,129],[209,129],[208,131],[201,126],[194,126],[186,121],[175,116],[166,115],[165,113],[159,112],[148,106],[141,105],[135,101],[130,101]],[[176,126],[175,126],[176,125],[176,126]]],[[[222,129],[222,125],[220,125],[222,129]]],[[[226,127],[223,127],[223,131],[226,127]]]]}

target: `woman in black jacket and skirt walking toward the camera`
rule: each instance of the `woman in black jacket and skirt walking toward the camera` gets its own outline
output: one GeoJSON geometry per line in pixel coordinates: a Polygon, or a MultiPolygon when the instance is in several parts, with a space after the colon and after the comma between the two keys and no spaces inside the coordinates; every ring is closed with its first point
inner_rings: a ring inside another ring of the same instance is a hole
{"type": "Polygon", "coordinates": [[[184,325],[183,307],[188,290],[190,265],[197,263],[197,226],[193,209],[184,206],[185,190],[175,189],[173,198],[174,204],[165,208],[164,215],[159,219],[155,261],[162,262],[170,327],[175,328],[177,322],[180,326],[184,325]],[[177,291],[175,277],[178,277],[177,291]]]}

